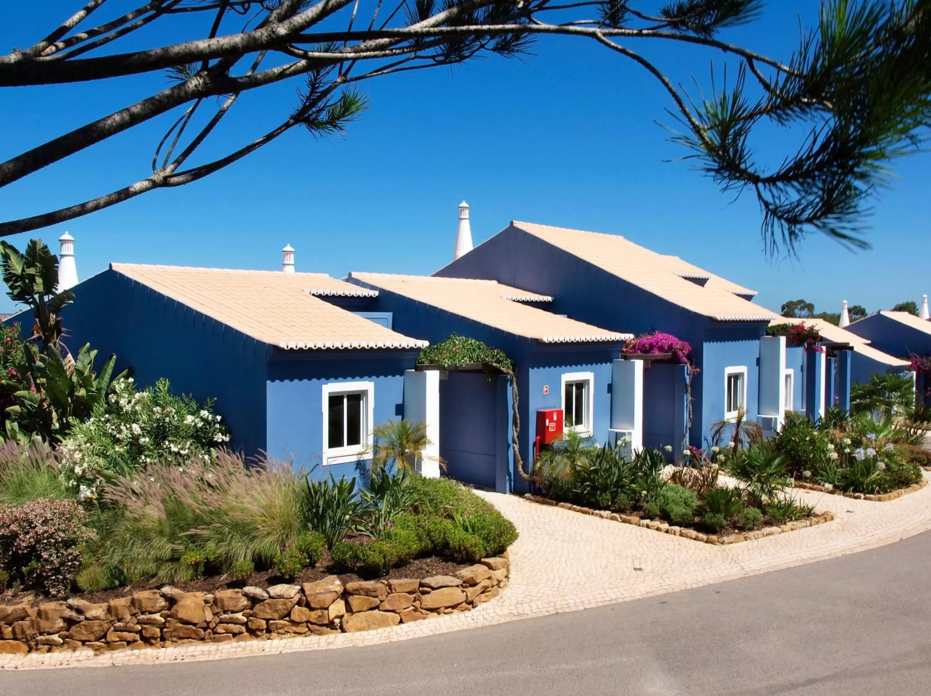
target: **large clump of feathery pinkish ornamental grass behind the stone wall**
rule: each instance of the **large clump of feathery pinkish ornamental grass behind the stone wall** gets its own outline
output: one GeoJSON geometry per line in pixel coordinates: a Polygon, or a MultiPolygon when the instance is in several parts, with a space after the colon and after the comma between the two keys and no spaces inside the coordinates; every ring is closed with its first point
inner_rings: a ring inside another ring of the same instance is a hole
{"type": "Polygon", "coordinates": [[[246,468],[221,452],[215,463],[160,463],[144,475],[118,478],[103,490],[118,515],[94,554],[128,582],[178,582],[209,561],[226,572],[239,561],[270,567],[281,548],[306,530],[302,481],[289,466],[246,468]],[[209,552],[209,557],[204,555],[209,552]]]}

